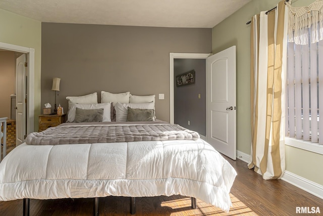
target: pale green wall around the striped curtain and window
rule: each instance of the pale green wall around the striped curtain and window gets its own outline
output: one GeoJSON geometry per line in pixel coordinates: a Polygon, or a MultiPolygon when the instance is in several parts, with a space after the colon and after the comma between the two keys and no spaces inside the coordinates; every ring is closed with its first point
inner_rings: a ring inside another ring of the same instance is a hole
{"type": "MultiPolygon", "coordinates": [[[[279,0],[252,0],[212,29],[212,53],[237,46],[237,149],[250,154],[250,25],[255,14],[274,8],[279,0]]],[[[293,1],[292,6],[306,6],[314,0],[293,1]]],[[[323,185],[323,155],[286,146],[286,170],[323,185]]]]}

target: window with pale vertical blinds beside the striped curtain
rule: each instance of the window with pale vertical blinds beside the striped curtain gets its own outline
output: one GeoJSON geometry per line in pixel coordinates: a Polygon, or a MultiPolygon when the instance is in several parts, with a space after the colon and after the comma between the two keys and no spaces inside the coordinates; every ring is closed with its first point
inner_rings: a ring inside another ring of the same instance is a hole
{"type": "Polygon", "coordinates": [[[310,29],[307,34],[307,45],[288,42],[285,132],[286,137],[323,144],[323,121],[319,122],[319,107],[323,109],[323,40],[311,44],[310,29]]]}

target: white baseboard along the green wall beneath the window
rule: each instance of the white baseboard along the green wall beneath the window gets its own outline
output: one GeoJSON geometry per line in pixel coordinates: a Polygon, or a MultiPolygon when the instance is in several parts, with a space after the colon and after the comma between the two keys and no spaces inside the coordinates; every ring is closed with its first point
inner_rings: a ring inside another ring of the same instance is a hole
{"type": "MultiPolygon", "coordinates": [[[[237,158],[248,163],[250,155],[237,150],[237,158]]],[[[285,170],[282,180],[323,199],[323,186],[285,170]]]]}

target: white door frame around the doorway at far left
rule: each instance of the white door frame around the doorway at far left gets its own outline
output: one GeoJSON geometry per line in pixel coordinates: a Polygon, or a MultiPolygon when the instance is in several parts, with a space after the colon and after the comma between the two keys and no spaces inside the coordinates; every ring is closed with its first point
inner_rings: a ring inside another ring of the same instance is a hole
{"type": "Polygon", "coordinates": [[[34,132],[34,74],[35,74],[35,49],[21,47],[0,42],[0,49],[16,51],[27,54],[27,134],[34,132]]]}

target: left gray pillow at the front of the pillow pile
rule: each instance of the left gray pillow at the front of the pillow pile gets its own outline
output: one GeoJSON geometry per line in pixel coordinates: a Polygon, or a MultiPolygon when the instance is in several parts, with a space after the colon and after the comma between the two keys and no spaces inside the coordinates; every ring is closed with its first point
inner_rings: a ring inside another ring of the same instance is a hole
{"type": "Polygon", "coordinates": [[[80,109],[76,107],[75,120],[73,122],[101,122],[103,109],[80,109]]]}

